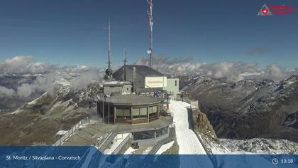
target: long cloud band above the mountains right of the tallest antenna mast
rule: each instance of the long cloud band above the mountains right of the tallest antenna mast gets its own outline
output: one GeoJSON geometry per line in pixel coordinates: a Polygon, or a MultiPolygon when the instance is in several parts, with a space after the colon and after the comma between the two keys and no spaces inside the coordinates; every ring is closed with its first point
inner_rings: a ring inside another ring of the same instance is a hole
{"type": "MultiPolygon", "coordinates": [[[[148,59],[140,58],[139,65],[148,65],[148,59]]],[[[174,75],[206,75],[211,78],[226,78],[231,81],[245,78],[282,80],[290,75],[297,75],[298,70],[287,70],[276,64],[260,68],[258,63],[222,62],[222,63],[194,63],[192,58],[153,57],[153,68],[165,74],[174,75]]]]}

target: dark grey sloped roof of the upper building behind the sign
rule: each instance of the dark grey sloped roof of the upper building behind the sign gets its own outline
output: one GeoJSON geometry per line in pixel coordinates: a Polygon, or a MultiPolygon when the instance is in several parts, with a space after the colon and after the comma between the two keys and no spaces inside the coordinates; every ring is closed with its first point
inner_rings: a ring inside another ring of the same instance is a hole
{"type": "MultiPolygon", "coordinates": [[[[143,76],[164,76],[162,73],[158,72],[158,70],[154,70],[153,68],[149,68],[146,65],[126,65],[126,68],[133,70],[133,67],[136,67],[136,73],[143,76]]],[[[119,68],[113,75],[121,75],[124,73],[123,66],[119,68]]]]}

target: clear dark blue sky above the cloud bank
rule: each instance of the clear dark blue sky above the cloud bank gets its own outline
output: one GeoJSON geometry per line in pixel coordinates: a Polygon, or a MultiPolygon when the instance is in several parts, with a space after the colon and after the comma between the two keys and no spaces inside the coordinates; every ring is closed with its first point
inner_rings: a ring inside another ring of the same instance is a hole
{"type": "MultiPolygon", "coordinates": [[[[298,15],[257,16],[264,3],[297,1],[155,0],[154,56],[192,56],[194,61],[277,63],[298,67],[298,15]]],[[[147,57],[146,0],[27,0],[0,5],[0,61],[33,56],[60,65],[106,66],[111,18],[112,62],[123,48],[129,63],[147,57]]]]}

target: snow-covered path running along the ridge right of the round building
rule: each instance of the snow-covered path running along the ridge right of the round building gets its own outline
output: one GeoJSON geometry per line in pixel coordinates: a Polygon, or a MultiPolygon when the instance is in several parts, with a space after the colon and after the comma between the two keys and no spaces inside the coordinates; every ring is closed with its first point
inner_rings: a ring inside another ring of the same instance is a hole
{"type": "MultiPolygon", "coordinates": [[[[177,143],[179,145],[179,154],[206,154],[204,147],[199,141],[197,135],[193,130],[189,129],[187,107],[188,103],[171,100],[170,111],[174,115],[175,131],[177,143]]],[[[189,155],[185,159],[185,155],[180,157],[180,167],[214,167],[211,160],[207,159],[193,159],[196,162],[190,162],[188,158],[195,157],[195,155],[189,155]]]]}

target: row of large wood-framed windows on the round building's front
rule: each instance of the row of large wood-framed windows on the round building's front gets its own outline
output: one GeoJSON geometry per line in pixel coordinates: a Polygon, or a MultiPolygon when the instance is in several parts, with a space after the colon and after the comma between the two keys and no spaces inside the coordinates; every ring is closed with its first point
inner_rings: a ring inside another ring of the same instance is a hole
{"type": "MultiPolygon", "coordinates": [[[[151,106],[148,108],[148,110],[149,110],[150,117],[154,117],[154,116],[158,115],[158,107],[157,106],[151,106]]],[[[147,118],[147,107],[133,108],[132,111],[129,109],[116,108],[117,118],[131,119],[131,112],[133,115],[133,119],[146,119],[147,118]]]]}

